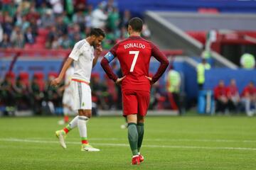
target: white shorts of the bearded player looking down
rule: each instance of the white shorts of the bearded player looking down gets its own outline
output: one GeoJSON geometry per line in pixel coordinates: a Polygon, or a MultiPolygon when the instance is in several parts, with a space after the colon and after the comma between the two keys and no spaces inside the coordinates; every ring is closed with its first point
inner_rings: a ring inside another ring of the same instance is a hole
{"type": "Polygon", "coordinates": [[[70,86],[73,90],[74,109],[92,110],[92,91],[90,86],[78,81],[71,81],[70,86]]]}

